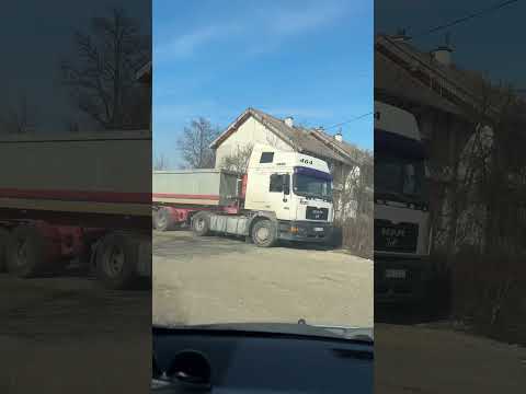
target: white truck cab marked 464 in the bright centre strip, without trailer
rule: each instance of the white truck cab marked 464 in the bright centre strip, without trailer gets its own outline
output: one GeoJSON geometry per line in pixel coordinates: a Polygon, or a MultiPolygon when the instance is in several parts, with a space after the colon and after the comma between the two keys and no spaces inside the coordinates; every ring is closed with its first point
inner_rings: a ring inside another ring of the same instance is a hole
{"type": "Polygon", "coordinates": [[[255,144],[247,171],[244,209],[272,216],[278,239],[327,242],[334,216],[327,162],[255,144]]]}

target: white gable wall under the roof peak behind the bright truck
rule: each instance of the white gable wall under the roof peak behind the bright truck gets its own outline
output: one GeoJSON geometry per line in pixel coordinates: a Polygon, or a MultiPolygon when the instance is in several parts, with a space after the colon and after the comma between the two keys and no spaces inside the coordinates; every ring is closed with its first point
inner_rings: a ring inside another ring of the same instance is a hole
{"type": "Polygon", "coordinates": [[[216,169],[220,167],[224,158],[235,153],[238,148],[253,143],[272,144],[283,151],[294,150],[287,142],[277,138],[274,132],[251,116],[217,148],[216,169]]]}

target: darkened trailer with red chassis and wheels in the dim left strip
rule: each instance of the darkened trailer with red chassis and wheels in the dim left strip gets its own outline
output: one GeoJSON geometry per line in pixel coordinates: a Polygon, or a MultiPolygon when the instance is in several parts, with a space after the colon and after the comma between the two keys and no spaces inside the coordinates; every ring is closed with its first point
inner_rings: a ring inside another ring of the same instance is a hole
{"type": "Polygon", "coordinates": [[[113,289],[151,276],[150,131],[4,136],[0,166],[0,269],[78,258],[113,289]]]}

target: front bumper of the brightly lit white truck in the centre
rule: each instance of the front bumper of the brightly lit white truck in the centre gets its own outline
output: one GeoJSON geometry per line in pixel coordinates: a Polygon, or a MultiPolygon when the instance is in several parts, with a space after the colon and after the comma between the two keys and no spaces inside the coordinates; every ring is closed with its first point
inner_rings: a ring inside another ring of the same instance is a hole
{"type": "Polygon", "coordinates": [[[332,237],[332,224],[327,222],[281,220],[278,224],[284,241],[328,243],[332,237]]]}

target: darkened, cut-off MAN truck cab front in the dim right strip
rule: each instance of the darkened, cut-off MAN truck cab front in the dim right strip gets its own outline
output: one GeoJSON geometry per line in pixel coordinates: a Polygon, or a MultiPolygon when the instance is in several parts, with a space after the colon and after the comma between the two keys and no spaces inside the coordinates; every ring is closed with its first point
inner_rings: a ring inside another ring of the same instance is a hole
{"type": "Polygon", "coordinates": [[[375,102],[375,301],[415,301],[432,280],[426,154],[415,117],[375,102]]]}

